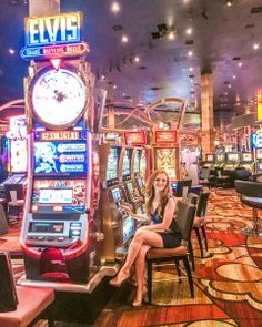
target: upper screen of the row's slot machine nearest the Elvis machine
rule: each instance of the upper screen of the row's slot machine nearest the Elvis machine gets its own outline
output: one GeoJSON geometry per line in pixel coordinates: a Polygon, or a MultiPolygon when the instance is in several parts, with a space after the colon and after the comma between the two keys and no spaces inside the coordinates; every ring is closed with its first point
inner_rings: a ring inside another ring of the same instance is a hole
{"type": "Polygon", "coordinates": [[[107,187],[110,187],[119,181],[119,159],[120,147],[111,146],[107,164],[107,187]]]}

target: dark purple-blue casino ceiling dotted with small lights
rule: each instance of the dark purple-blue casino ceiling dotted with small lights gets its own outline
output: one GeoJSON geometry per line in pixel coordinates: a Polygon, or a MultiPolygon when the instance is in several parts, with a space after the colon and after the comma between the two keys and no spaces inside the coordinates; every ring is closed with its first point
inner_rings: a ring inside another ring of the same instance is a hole
{"type": "MultiPolygon", "coordinates": [[[[0,104],[23,96],[28,62],[19,50],[28,1],[0,1],[0,104]]],[[[181,96],[200,110],[201,74],[212,73],[216,111],[254,109],[255,90],[262,88],[262,1],[234,0],[228,7],[223,0],[118,0],[118,13],[112,2],[60,0],[61,12],[83,11],[88,61],[111,102],[137,106],[181,96]]]]}

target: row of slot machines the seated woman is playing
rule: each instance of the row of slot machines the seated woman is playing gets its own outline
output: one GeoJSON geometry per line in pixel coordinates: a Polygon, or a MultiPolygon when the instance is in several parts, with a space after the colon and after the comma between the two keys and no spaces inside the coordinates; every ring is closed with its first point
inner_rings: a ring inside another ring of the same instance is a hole
{"type": "Polygon", "coordinates": [[[138,228],[130,212],[143,213],[148,155],[145,149],[100,145],[100,217],[104,234],[101,257],[105,262],[122,258],[138,228]]]}

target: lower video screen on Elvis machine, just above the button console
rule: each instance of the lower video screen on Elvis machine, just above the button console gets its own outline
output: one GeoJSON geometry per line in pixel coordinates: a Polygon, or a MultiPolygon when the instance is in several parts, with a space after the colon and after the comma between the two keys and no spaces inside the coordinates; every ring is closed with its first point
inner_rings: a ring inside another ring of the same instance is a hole
{"type": "Polygon", "coordinates": [[[84,213],[85,180],[34,180],[32,212],[84,213]]]}

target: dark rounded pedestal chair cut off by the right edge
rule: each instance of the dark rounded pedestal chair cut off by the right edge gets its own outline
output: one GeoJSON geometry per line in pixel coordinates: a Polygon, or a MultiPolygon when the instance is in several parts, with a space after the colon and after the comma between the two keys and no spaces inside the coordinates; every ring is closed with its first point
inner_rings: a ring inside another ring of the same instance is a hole
{"type": "Polygon", "coordinates": [[[259,231],[259,214],[258,210],[262,210],[262,183],[241,181],[234,182],[235,191],[241,194],[243,204],[250,206],[253,211],[253,226],[252,229],[245,231],[246,234],[261,235],[259,231]]]}

